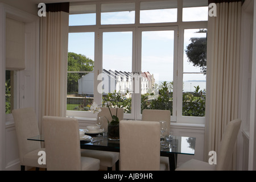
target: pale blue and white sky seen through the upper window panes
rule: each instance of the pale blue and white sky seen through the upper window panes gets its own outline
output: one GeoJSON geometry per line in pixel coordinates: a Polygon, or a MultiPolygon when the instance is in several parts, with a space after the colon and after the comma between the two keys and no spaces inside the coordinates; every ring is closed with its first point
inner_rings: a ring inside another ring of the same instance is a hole
{"type": "MultiPolygon", "coordinates": [[[[134,23],[134,11],[102,13],[102,24],[134,23]]],[[[183,21],[200,18],[207,20],[208,7],[187,8],[183,10],[183,21]],[[204,16],[203,16],[204,14],[204,16]]],[[[176,22],[177,10],[141,11],[141,23],[176,22]]],[[[95,14],[70,15],[69,26],[96,24],[95,14]]],[[[197,30],[185,30],[184,49],[192,37],[205,37],[197,30]]],[[[102,42],[102,61],[104,69],[131,72],[133,32],[104,32],[102,42]]],[[[69,33],[69,52],[81,53],[94,60],[94,32],[69,33]]],[[[142,31],[142,72],[148,71],[160,81],[173,80],[174,31],[142,31]]],[[[184,72],[200,72],[200,68],[187,64],[184,53],[184,72]]],[[[183,81],[205,80],[203,74],[184,74],[183,81]]]]}

